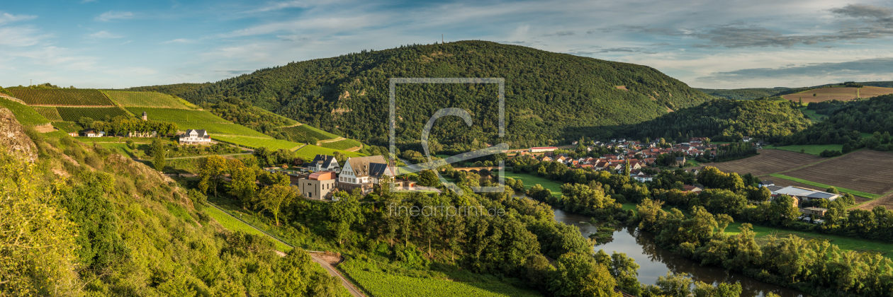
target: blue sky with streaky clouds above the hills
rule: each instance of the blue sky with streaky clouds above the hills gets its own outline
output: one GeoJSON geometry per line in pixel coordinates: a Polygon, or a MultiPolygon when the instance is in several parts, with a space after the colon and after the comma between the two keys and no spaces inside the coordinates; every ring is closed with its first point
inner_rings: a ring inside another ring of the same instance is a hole
{"type": "Polygon", "coordinates": [[[891,1],[38,0],[0,5],[0,86],[213,82],[441,34],[647,65],[691,87],[893,80],[891,1]]]}

